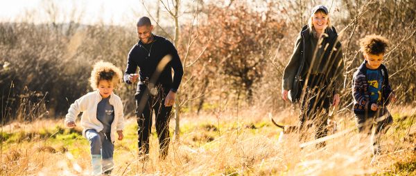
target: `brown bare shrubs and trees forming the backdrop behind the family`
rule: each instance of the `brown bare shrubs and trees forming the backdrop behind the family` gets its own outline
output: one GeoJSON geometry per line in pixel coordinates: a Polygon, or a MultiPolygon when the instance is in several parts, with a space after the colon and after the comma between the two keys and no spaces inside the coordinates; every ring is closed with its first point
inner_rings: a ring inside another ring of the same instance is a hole
{"type": "MultiPolygon", "coordinates": [[[[187,23],[180,26],[177,49],[182,58],[188,58],[185,67],[191,65],[185,69],[182,85],[186,86],[180,90],[182,111],[218,113],[235,105],[288,108],[280,98],[281,72],[315,4],[279,1],[253,6],[247,1],[230,2],[204,3],[198,10],[198,26],[193,26],[195,32],[189,32],[192,26],[187,23]],[[195,39],[189,52],[188,39],[195,39]]],[[[350,108],[352,73],[363,61],[358,39],[369,34],[390,39],[385,65],[392,86],[399,103],[415,101],[416,2],[344,0],[326,5],[331,7],[331,18],[343,43],[346,88],[342,107],[350,108]]],[[[51,19],[53,14],[51,10],[51,19]]],[[[69,18],[73,20],[67,24],[0,24],[4,121],[16,117],[24,91],[44,95],[49,115],[59,117],[71,102],[90,91],[87,77],[92,63],[105,60],[125,68],[126,55],[137,42],[134,26],[87,26],[78,23],[76,12],[69,18]]],[[[134,92],[135,86],[116,90],[127,113],[134,109],[134,92]]]]}

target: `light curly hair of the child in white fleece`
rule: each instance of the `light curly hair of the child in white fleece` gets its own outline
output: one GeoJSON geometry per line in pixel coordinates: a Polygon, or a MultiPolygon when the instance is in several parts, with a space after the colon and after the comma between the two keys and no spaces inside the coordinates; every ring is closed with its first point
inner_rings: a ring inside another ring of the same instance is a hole
{"type": "Polygon", "coordinates": [[[96,90],[98,88],[98,83],[101,80],[112,81],[114,88],[119,86],[123,73],[120,68],[114,66],[114,64],[105,61],[98,61],[94,64],[92,68],[91,77],[89,77],[89,82],[91,83],[92,89],[96,90]]]}

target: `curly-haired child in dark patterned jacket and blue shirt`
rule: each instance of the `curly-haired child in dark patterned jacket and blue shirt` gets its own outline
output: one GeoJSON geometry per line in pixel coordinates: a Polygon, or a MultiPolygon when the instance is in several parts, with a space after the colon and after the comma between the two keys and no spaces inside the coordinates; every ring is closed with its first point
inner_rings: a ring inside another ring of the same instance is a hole
{"type": "Polygon", "coordinates": [[[352,81],[354,116],[358,131],[371,135],[372,128],[375,128],[372,136],[374,155],[380,153],[380,135],[388,130],[393,121],[387,105],[396,100],[390,86],[388,70],[382,64],[388,43],[388,39],[379,35],[367,35],[360,40],[365,60],[354,72],[352,81]]]}

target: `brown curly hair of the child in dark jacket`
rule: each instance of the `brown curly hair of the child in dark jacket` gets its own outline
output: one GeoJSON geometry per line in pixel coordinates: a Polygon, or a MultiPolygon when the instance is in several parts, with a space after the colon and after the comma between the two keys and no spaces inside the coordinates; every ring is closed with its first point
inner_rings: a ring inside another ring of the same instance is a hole
{"type": "Polygon", "coordinates": [[[385,53],[385,48],[387,48],[388,45],[388,39],[385,39],[380,35],[367,35],[360,40],[361,51],[372,55],[385,53]]]}

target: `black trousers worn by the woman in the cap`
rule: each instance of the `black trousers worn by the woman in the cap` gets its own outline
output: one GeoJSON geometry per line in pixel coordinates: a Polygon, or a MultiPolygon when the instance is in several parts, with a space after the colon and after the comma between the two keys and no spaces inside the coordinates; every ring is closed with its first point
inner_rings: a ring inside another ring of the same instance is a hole
{"type": "MultiPolygon", "coordinates": [[[[310,75],[306,91],[300,103],[300,141],[306,139],[306,130],[315,126],[315,139],[327,136],[329,106],[333,91],[329,88],[324,75],[310,75]]],[[[318,146],[324,146],[322,142],[318,146]]]]}

